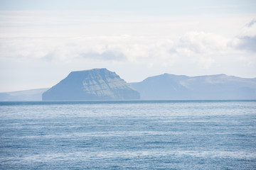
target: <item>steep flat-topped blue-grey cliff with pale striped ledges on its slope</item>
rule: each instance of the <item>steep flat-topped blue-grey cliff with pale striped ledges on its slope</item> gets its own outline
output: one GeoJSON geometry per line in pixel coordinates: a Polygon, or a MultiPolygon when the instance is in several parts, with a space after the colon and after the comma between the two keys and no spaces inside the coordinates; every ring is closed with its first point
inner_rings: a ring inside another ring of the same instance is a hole
{"type": "Polygon", "coordinates": [[[133,100],[139,92],[115,72],[90,69],[71,72],[68,77],[44,92],[43,101],[133,100]]]}

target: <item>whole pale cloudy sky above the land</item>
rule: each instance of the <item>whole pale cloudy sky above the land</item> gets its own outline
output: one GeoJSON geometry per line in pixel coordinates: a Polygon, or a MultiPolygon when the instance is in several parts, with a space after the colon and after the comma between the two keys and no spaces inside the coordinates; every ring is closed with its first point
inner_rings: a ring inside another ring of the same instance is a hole
{"type": "Polygon", "coordinates": [[[107,68],[256,77],[256,1],[0,0],[0,92],[107,68]]]}

